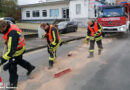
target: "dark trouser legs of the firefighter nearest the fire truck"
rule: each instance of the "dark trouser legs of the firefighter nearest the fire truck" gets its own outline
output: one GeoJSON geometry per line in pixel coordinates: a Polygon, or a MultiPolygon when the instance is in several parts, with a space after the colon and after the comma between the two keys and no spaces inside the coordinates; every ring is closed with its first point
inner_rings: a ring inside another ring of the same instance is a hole
{"type": "Polygon", "coordinates": [[[90,52],[90,53],[93,53],[93,52],[94,52],[95,42],[97,43],[98,50],[102,50],[102,49],[103,49],[102,40],[99,40],[99,41],[90,40],[90,47],[89,47],[89,52],[90,52]]]}

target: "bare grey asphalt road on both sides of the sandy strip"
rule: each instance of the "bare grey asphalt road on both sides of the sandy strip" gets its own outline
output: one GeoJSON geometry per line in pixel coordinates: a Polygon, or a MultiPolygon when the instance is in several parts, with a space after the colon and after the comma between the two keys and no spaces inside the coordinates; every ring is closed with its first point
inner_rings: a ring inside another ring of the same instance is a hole
{"type": "MultiPolygon", "coordinates": [[[[112,43],[105,45],[105,53],[100,58],[92,59],[93,61],[79,71],[78,75],[69,79],[64,90],[130,90],[129,41],[130,38],[119,36],[112,43]]],[[[63,45],[57,52],[58,56],[67,55],[69,51],[76,49],[81,44],[82,41],[78,40],[63,45]]],[[[38,73],[41,67],[48,65],[46,49],[27,53],[24,58],[37,67],[33,73],[38,73]]],[[[18,73],[19,82],[28,79],[23,68],[18,67],[18,73]]],[[[7,81],[8,73],[2,74],[5,76],[4,81],[7,81]]],[[[33,90],[36,89],[33,88],[33,90]]]]}

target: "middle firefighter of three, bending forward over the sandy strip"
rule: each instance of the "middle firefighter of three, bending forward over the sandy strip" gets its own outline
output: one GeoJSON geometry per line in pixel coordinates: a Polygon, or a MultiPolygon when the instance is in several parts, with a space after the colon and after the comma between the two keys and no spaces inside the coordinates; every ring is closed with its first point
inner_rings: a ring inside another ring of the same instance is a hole
{"type": "Polygon", "coordinates": [[[54,25],[49,25],[47,23],[41,23],[40,27],[45,30],[45,37],[48,43],[48,53],[49,56],[49,68],[53,68],[53,64],[56,58],[56,50],[61,45],[61,38],[57,28],[54,25]]]}

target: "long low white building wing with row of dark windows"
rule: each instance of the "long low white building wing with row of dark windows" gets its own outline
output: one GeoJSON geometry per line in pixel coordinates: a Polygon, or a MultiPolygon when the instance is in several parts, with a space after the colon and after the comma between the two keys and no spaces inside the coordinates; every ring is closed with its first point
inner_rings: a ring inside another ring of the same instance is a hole
{"type": "Polygon", "coordinates": [[[22,20],[24,21],[53,21],[69,18],[69,2],[55,1],[29,5],[21,5],[22,20]]]}

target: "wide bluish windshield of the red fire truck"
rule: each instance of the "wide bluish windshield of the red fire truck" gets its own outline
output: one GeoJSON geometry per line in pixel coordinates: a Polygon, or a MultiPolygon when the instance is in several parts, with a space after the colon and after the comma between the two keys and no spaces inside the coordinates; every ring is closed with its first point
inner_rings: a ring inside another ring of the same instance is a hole
{"type": "Polygon", "coordinates": [[[116,17],[116,16],[124,16],[124,8],[103,8],[100,12],[100,17],[116,17]]]}

